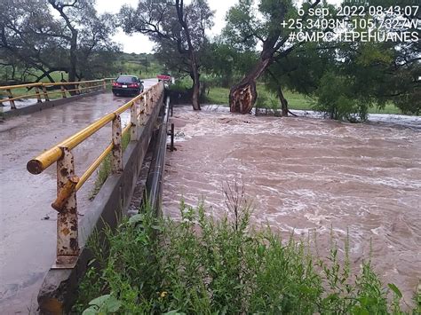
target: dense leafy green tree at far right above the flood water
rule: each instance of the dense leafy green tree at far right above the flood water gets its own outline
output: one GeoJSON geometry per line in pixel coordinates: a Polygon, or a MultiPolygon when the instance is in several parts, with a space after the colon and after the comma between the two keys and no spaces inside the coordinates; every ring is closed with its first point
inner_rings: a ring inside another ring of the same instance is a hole
{"type": "MultiPolygon", "coordinates": [[[[412,13],[417,12],[417,16],[411,16],[401,14],[398,10],[401,8],[403,12],[404,8],[412,4],[410,0],[401,0],[397,4],[371,0],[367,8],[381,6],[388,13],[353,18],[373,21],[375,26],[372,32],[379,38],[407,33],[412,40],[403,41],[396,37],[386,41],[338,43],[336,58],[331,62],[333,67],[330,67],[333,73],[327,74],[315,93],[319,96],[318,109],[324,109],[332,118],[351,121],[357,116],[363,121],[367,118],[370,106],[383,108],[387,103],[398,106],[405,114],[421,112],[421,47],[418,43],[421,29],[413,23],[419,23],[421,12],[413,10],[412,13]],[[391,5],[393,12],[388,11],[391,5]],[[401,20],[405,23],[397,28],[389,28],[385,26],[386,20],[401,20]],[[330,83],[327,78],[330,78],[330,83]],[[336,86],[336,90],[331,91],[334,94],[332,96],[327,95],[331,88],[329,84],[336,86]],[[333,101],[333,98],[336,100],[333,101]],[[327,102],[323,104],[323,100],[327,102]]],[[[367,29],[356,28],[353,31],[361,33],[367,29]]]]}

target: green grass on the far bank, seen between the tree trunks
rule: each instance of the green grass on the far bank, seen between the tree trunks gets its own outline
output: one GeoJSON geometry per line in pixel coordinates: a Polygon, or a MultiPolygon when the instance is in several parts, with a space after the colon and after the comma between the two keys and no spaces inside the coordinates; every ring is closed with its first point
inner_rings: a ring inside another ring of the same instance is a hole
{"type": "MultiPolygon", "coordinates": [[[[264,84],[257,85],[258,98],[263,98],[263,104],[258,105],[259,107],[272,108],[273,104],[276,104],[277,109],[280,108],[279,100],[273,93],[266,91],[264,84]]],[[[209,94],[206,96],[206,103],[218,104],[228,106],[228,88],[211,87],[209,94]]],[[[316,104],[316,99],[306,97],[302,94],[293,91],[284,91],[284,96],[288,100],[290,109],[299,110],[313,110],[313,106],[316,104]]],[[[259,102],[259,100],[258,100],[259,102]]],[[[386,104],[384,109],[378,109],[377,107],[370,107],[369,114],[402,114],[401,110],[393,104],[386,104]]]]}

